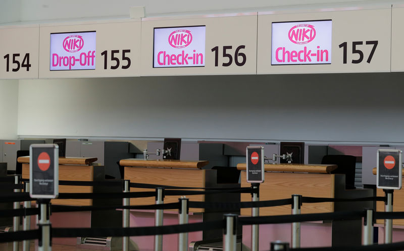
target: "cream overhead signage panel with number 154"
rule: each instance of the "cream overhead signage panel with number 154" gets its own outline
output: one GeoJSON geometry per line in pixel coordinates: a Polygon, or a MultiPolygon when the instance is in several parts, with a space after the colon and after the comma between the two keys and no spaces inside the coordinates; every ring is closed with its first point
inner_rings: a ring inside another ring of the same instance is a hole
{"type": "Polygon", "coordinates": [[[0,79],[37,79],[39,26],[0,28],[0,79]]]}

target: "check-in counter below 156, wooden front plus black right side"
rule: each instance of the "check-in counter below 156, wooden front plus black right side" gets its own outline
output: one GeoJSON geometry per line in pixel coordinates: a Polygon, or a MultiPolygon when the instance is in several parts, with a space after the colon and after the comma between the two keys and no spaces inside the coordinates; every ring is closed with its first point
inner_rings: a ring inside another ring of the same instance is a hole
{"type": "MultiPolygon", "coordinates": [[[[133,183],[147,183],[168,186],[181,187],[210,187],[210,188],[238,188],[240,187],[239,171],[235,167],[214,166],[212,169],[201,169],[208,165],[208,161],[188,161],[188,160],[144,160],[144,159],[123,159],[120,165],[124,166],[124,178],[133,183]]],[[[131,187],[130,192],[155,191],[155,189],[140,189],[131,187]]],[[[184,189],[184,191],[203,191],[200,189],[184,189]]],[[[180,196],[165,196],[164,203],[178,202],[180,196]]],[[[208,195],[186,196],[190,201],[199,202],[239,202],[238,193],[215,193],[208,195]]],[[[131,198],[130,205],[151,205],[155,204],[156,198],[131,198]]],[[[176,210],[175,210],[176,211],[176,210]]],[[[225,209],[199,209],[190,208],[189,212],[195,217],[202,215],[203,221],[214,221],[223,219],[223,213],[237,213],[239,211],[229,212],[225,209]]],[[[131,212],[141,217],[136,210],[131,212]]],[[[154,212],[153,212],[154,213],[154,212]]],[[[172,212],[167,212],[166,216],[172,217],[172,212]]],[[[166,218],[165,216],[165,218],[166,218]]],[[[199,218],[198,218],[199,219],[199,218]]],[[[195,222],[197,222],[196,220],[195,222]]],[[[174,224],[174,223],[173,223],[174,224]]],[[[134,225],[137,226],[137,225],[134,225]]],[[[221,229],[211,229],[203,231],[202,238],[194,240],[212,240],[221,238],[223,232],[221,229]]],[[[137,240],[139,241],[139,240],[137,240]]],[[[151,240],[153,241],[153,239],[151,240]]]]}

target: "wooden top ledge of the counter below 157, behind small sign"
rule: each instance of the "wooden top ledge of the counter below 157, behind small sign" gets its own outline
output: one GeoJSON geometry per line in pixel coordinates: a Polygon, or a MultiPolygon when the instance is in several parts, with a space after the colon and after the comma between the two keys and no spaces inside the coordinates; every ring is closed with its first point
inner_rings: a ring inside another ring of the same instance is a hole
{"type": "MultiPolygon", "coordinates": [[[[237,164],[238,170],[247,169],[246,163],[237,164]]],[[[337,169],[336,165],[305,165],[305,164],[265,164],[265,171],[270,172],[308,172],[308,173],[331,173],[337,169]]]]}

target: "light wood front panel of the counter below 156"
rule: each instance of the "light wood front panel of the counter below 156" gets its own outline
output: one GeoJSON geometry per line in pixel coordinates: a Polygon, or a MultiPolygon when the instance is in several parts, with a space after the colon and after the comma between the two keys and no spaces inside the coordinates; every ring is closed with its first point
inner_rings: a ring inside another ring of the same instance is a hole
{"type": "MultiPolygon", "coordinates": [[[[205,187],[205,170],[200,169],[176,169],[176,168],[152,168],[152,167],[128,167],[125,166],[125,179],[133,183],[205,187]]],[[[131,188],[130,192],[156,191],[155,189],[131,188]]],[[[200,190],[196,190],[200,191],[200,190]]],[[[180,196],[166,196],[164,203],[178,202],[180,196]]],[[[204,195],[186,196],[190,201],[205,201],[204,195]]],[[[153,205],[156,198],[132,198],[130,205],[153,205]]],[[[190,208],[190,212],[204,212],[203,209],[190,208]]]]}

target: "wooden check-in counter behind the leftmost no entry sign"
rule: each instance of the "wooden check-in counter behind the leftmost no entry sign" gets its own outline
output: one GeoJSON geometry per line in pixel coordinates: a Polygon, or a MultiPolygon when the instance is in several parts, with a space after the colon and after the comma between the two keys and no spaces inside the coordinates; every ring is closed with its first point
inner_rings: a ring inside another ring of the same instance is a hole
{"type": "MultiPolygon", "coordinates": [[[[104,166],[93,166],[97,158],[59,157],[59,180],[96,181],[105,177],[104,166]]],[[[22,178],[29,179],[29,156],[17,159],[22,163],[22,178]]],[[[92,193],[93,186],[60,185],[59,193],[92,193]]],[[[92,206],[92,199],[54,199],[55,205],[92,206]]]]}

